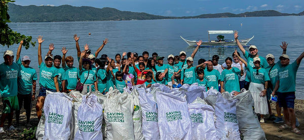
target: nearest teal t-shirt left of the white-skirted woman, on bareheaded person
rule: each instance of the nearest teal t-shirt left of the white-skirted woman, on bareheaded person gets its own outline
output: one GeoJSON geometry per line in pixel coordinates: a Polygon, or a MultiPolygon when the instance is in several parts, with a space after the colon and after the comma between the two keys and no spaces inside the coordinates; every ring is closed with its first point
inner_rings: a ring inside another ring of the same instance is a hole
{"type": "Polygon", "coordinates": [[[239,74],[240,69],[232,67],[232,69],[224,69],[221,74],[221,81],[224,81],[225,91],[231,92],[233,90],[240,92],[239,74]]]}

